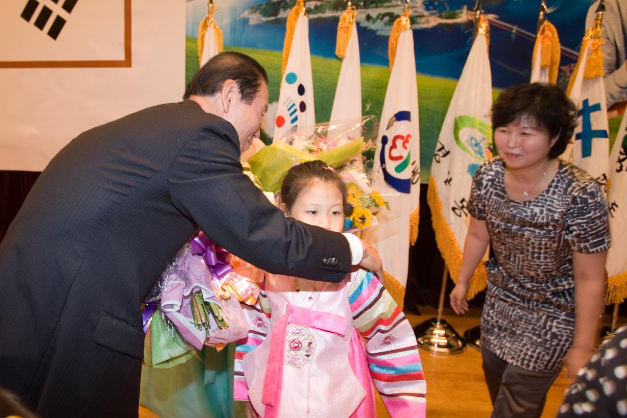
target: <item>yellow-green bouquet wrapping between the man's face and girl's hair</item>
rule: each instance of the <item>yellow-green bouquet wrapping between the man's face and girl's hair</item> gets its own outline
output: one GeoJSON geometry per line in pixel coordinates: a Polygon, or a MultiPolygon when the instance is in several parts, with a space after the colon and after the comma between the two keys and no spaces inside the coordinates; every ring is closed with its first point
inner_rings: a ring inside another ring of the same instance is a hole
{"type": "Polygon", "coordinates": [[[278,193],[281,190],[281,183],[283,183],[285,174],[294,163],[314,161],[314,159],[312,154],[278,141],[261,148],[248,160],[248,164],[250,164],[253,174],[259,179],[263,190],[278,193]]]}

